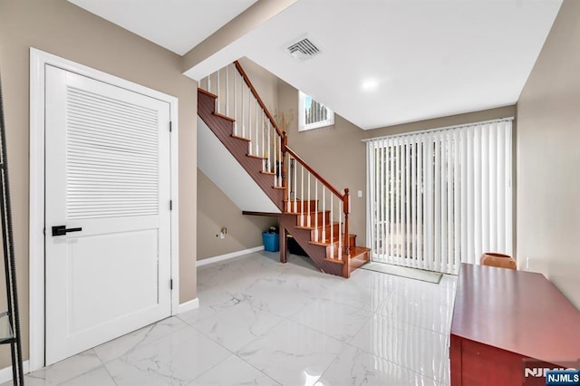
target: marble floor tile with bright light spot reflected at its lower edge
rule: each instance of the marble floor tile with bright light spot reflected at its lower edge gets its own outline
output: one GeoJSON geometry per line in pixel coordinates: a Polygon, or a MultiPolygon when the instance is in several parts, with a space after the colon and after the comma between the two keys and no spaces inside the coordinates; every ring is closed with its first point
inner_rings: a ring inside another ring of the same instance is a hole
{"type": "Polygon", "coordinates": [[[314,385],[343,343],[295,322],[277,325],[237,352],[283,385],[314,385]]]}

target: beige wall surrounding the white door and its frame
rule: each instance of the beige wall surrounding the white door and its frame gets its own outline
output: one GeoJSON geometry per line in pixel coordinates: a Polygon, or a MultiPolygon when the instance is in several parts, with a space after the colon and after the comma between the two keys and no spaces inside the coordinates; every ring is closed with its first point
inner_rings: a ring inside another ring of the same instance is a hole
{"type": "MultiPolygon", "coordinates": [[[[65,0],[0,0],[4,86],[15,253],[24,358],[28,357],[29,48],[91,66],[179,98],[180,301],[196,297],[197,84],[181,58],[65,0]]],[[[0,288],[4,298],[4,287],[0,288]]],[[[5,347],[5,346],[4,346],[5,347]]],[[[2,352],[0,368],[9,364],[2,352]]]]}

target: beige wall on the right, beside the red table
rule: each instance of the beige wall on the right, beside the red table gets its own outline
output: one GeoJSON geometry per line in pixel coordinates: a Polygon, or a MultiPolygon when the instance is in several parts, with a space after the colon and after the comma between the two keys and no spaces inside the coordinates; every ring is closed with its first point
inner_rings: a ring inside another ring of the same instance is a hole
{"type": "Polygon", "coordinates": [[[517,257],[580,309],[580,2],[564,0],[517,101],[517,257]]]}

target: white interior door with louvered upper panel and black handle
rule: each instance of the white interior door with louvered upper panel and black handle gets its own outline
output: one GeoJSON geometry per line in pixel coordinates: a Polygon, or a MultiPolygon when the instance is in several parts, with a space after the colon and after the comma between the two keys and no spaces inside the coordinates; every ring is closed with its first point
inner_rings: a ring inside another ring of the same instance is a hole
{"type": "Polygon", "coordinates": [[[169,103],[52,66],[45,103],[48,365],[169,316],[171,229],[169,103]]]}

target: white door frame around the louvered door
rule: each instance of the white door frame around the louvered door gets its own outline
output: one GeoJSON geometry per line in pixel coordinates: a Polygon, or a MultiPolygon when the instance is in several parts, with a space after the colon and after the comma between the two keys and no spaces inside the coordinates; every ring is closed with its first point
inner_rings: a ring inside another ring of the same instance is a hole
{"type": "MultiPolygon", "coordinates": [[[[131,92],[169,103],[171,125],[171,314],[179,313],[179,200],[178,200],[178,99],[140,84],[74,63],[51,53],[30,49],[30,202],[29,202],[29,326],[30,371],[44,367],[44,67],[109,83],[131,92]]],[[[168,128],[169,130],[169,128],[168,128]]]]}

